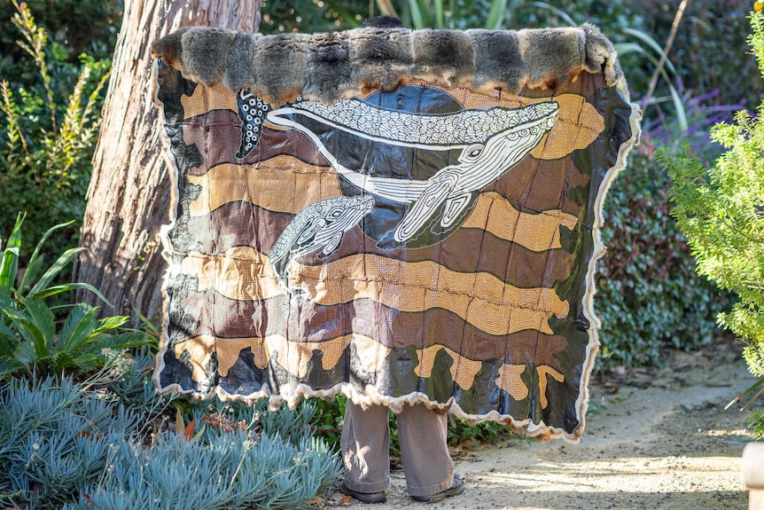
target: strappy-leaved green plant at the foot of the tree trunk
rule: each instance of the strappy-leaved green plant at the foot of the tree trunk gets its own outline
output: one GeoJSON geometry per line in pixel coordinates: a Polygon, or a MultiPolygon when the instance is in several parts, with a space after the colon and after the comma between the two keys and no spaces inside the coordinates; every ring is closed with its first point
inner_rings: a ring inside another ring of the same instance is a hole
{"type": "Polygon", "coordinates": [[[103,295],[88,284],[51,285],[84,248],[66,250],[43,272],[40,254],[45,241],[68,224],[58,224],[45,232],[27,267],[19,271],[23,221],[22,215],[16,218],[0,257],[0,380],[20,374],[43,378],[61,373],[82,376],[104,365],[105,349],[144,345],[143,333],[113,333],[127,317],[99,319],[97,309],[85,303],[59,307],[46,304],[46,298],[75,288],[88,289],[102,299],[103,295]],[[23,274],[20,279],[19,272],[23,274]],[[62,310],[68,312],[63,314],[62,310]]]}

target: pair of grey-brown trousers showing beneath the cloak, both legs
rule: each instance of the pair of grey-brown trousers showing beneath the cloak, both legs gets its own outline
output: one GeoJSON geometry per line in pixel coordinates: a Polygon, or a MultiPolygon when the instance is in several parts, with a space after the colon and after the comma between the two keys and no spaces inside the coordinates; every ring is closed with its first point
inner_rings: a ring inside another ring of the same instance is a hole
{"type": "MultiPolygon", "coordinates": [[[[432,496],[451,486],[454,467],[448,454],[445,414],[422,404],[404,405],[396,415],[403,471],[411,496],[432,496]]],[[[363,410],[349,400],[340,440],[345,485],[358,492],[381,492],[390,482],[390,430],[387,408],[363,410]]]]}

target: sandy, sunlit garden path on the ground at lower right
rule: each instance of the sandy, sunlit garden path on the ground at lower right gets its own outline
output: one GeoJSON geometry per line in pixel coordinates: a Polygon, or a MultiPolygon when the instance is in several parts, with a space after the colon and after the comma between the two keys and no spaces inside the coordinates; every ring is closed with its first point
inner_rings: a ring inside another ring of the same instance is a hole
{"type": "MultiPolygon", "coordinates": [[[[464,443],[452,451],[464,494],[427,508],[745,510],[740,457],[753,440],[749,414],[724,409],[755,381],[741,350],[720,340],[667,353],[662,368],[597,374],[581,443],[518,436],[477,449],[464,443]]],[[[339,492],[325,503],[360,506],[339,492]]],[[[366,507],[408,506],[422,504],[394,470],[387,503],[366,507]]]]}

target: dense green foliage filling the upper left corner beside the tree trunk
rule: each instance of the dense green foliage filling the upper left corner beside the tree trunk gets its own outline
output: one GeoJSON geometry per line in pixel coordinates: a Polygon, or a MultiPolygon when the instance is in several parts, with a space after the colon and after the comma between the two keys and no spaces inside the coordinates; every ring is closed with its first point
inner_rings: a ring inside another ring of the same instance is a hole
{"type": "MultiPolygon", "coordinates": [[[[0,239],[26,212],[24,244],[34,246],[51,225],[84,215],[111,67],[109,15],[118,12],[102,2],[29,2],[20,13],[17,5],[0,2],[0,239]]],[[[76,246],[78,232],[58,231],[48,247],[76,246]]]]}

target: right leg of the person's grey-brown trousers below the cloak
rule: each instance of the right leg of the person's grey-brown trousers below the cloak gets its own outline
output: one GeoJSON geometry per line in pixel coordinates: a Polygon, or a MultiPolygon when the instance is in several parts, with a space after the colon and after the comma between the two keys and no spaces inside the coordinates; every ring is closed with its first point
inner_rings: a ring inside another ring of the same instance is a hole
{"type": "Polygon", "coordinates": [[[454,483],[446,416],[423,404],[404,405],[397,415],[403,470],[409,494],[430,497],[454,483]]]}

